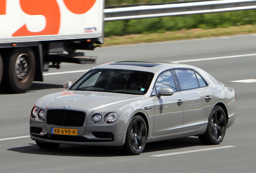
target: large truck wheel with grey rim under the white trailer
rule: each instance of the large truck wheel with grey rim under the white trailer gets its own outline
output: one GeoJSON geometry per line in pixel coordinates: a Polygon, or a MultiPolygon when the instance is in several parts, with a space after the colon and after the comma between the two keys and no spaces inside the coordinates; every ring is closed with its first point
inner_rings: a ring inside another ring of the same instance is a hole
{"type": "Polygon", "coordinates": [[[32,48],[15,48],[4,58],[1,88],[8,93],[25,93],[35,77],[35,55],[32,48]]]}

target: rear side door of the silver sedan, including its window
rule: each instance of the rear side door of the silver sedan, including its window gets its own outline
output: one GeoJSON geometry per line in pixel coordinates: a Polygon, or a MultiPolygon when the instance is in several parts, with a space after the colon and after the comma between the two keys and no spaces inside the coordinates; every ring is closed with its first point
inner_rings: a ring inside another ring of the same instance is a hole
{"type": "Polygon", "coordinates": [[[198,72],[191,69],[174,70],[184,97],[183,131],[207,125],[214,90],[198,72]]]}

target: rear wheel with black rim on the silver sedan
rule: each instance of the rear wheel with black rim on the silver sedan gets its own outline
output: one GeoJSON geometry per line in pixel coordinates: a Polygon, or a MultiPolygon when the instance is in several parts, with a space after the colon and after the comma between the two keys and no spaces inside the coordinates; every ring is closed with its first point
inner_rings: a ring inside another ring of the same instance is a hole
{"type": "Polygon", "coordinates": [[[224,110],[216,106],[211,111],[208,126],[204,135],[199,135],[199,140],[206,145],[217,145],[221,143],[226,133],[227,120],[224,110]]]}

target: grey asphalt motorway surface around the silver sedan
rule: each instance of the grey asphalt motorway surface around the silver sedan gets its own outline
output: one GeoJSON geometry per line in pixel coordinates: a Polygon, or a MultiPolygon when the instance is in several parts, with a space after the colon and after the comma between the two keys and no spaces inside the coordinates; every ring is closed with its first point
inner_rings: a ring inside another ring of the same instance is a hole
{"type": "Polygon", "coordinates": [[[45,81],[34,82],[25,94],[0,92],[1,173],[256,172],[256,83],[230,82],[256,79],[256,35],[103,47],[86,54],[98,56],[97,64],[61,64],[59,70],[45,72],[45,81]],[[63,91],[64,82],[74,82],[83,74],[68,71],[116,60],[185,60],[182,63],[198,66],[233,87],[237,95],[237,118],[227,129],[223,142],[208,146],[196,137],[186,137],[147,143],[142,154],[125,156],[108,147],[60,145],[56,150],[43,150],[27,137],[34,102],[43,95],[63,91]]]}

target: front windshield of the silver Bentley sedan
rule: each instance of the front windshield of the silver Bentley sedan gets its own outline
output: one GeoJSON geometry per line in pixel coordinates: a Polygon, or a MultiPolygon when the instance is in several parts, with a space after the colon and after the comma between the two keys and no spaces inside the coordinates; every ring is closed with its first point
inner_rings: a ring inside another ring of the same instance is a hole
{"type": "Polygon", "coordinates": [[[153,76],[151,72],[136,70],[93,69],[70,90],[143,95],[147,93],[153,76]]]}

